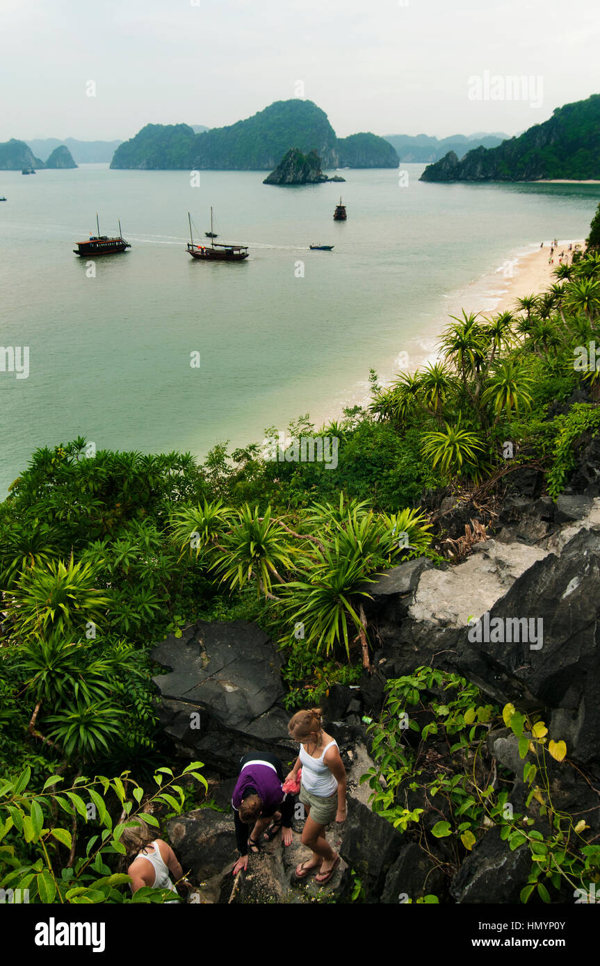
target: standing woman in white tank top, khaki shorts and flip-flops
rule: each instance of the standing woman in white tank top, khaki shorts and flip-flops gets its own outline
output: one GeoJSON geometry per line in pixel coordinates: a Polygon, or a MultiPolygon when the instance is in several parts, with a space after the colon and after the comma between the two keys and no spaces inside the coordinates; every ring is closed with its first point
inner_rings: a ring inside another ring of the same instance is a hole
{"type": "Polygon", "coordinates": [[[320,708],[297,712],[288,733],[300,743],[300,754],[286,781],[296,781],[301,766],[300,802],[307,812],[302,844],[312,850],[311,858],[296,867],[296,878],[318,869],[315,881],[325,885],[340,862],[325,832],[333,819],[346,820],[346,769],[337,742],[323,729],[320,708]]]}

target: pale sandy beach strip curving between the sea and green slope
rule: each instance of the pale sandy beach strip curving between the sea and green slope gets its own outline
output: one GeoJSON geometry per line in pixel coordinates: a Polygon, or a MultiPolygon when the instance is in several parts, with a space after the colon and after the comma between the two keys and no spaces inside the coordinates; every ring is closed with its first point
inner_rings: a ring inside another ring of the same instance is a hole
{"type": "MultiPolygon", "coordinates": [[[[414,351],[408,354],[409,364],[400,364],[403,354],[400,353],[391,363],[389,370],[384,373],[378,372],[379,382],[382,388],[386,388],[396,378],[399,372],[409,372],[414,374],[417,369],[429,362],[441,360],[439,350],[440,339],[442,338],[443,328],[448,324],[449,316],[460,315],[464,309],[470,312],[479,313],[484,319],[489,319],[493,315],[515,309],[517,298],[524,298],[531,294],[537,295],[542,290],[548,288],[556,280],[553,271],[557,268],[560,252],[564,251],[565,258],[569,253],[569,244],[575,248],[579,244],[585,249],[586,241],[583,239],[558,239],[557,257],[554,264],[549,264],[551,241],[544,240],[543,247],[537,242],[529,242],[519,248],[513,249],[509,257],[493,271],[486,271],[478,278],[474,278],[461,289],[444,295],[447,300],[445,310],[436,317],[437,330],[434,333],[432,327],[431,334],[427,334],[418,340],[418,345],[414,351]]],[[[411,346],[411,344],[409,344],[411,346]]],[[[325,414],[310,415],[310,421],[315,427],[327,425],[329,422],[339,420],[343,417],[343,410],[352,406],[368,406],[370,395],[368,384],[361,381],[356,384],[354,391],[346,392],[341,401],[331,402],[325,414]]]]}

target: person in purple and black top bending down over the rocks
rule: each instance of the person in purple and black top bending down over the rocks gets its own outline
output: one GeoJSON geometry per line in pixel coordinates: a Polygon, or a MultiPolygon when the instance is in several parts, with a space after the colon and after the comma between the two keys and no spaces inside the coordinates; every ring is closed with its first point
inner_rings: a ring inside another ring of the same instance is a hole
{"type": "Polygon", "coordinates": [[[252,852],[260,851],[263,834],[271,841],[282,829],[283,844],[292,844],[296,799],[283,791],[283,781],[283,765],[274,754],[255,752],[244,754],[240,759],[240,777],[231,799],[240,852],[233,867],[234,875],[248,867],[248,848],[252,852]],[[248,825],[252,826],[249,833],[248,825]]]}

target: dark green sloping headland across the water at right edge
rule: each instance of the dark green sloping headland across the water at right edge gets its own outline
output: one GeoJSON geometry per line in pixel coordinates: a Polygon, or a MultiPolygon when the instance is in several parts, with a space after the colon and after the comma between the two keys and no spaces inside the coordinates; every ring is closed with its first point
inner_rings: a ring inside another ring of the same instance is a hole
{"type": "Polygon", "coordinates": [[[600,94],[557,107],[551,118],[497,148],[448,152],[430,164],[423,182],[600,179],[600,94]]]}

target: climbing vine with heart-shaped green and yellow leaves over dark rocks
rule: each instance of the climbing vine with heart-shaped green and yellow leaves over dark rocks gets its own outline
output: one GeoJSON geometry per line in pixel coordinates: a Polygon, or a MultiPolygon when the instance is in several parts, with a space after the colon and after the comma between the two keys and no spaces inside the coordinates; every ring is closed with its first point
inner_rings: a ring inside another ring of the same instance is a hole
{"type": "Polygon", "coordinates": [[[511,851],[529,849],[522,902],[533,893],[550,902],[550,888],[586,894],[590,882],[600,881],[600,845],[587,841],[586,821],[574,821],[553,804],[549,761],[562,761],[567,749],[563,741],[548,740],[539,716],[529,718],[512,704],[500,714],[457,674],[416,668],[414,674],[387,681],[381,718],[368,730],[376,765],[362,781],[372,789],[373,810],[401,832],[417,834],[445,874],[453,874],[496,825],[511,851]],[[508,801],[514,778],[501,767],[497,772],[490,752],[495,731],[518,741],[527,815],[508,801]],[[444,850],[443,859],[430,837],[447,840],[449,853],[444,850]]]}

